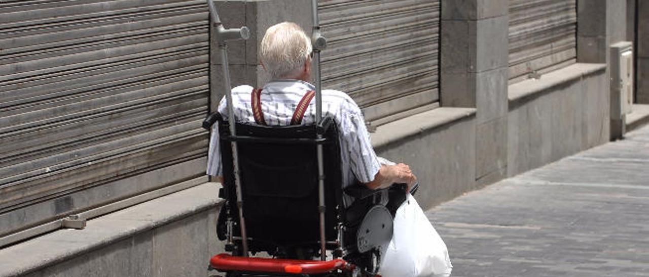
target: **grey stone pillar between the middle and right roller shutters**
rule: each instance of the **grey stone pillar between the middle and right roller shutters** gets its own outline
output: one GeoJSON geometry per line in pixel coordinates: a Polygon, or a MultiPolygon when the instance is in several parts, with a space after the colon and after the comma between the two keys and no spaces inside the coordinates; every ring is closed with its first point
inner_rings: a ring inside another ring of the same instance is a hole
{"type": "Polygon", "coordinates": [[[441,1],[441,105],[477,109],[478,185],[507,171],[508,3],[441,1]]]}

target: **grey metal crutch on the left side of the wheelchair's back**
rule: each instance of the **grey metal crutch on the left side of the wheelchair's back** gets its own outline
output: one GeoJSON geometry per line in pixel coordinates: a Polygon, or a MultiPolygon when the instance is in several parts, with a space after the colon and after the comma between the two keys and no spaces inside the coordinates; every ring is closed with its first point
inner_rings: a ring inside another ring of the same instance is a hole
{"type": "MultiPolygon", "coordinates": [[[[232,107],[232,91],[230,90],[230,69],[228,69],[228,45],[226,41],[237,39],[248,39],[250,31],[247,27],[226,29],[221,24],[219,14],[212,0],[207,0],[212,15],[212,24],[216,29],[215,40],[221,50],[221,63],[223,65],[223,85],[225,85],[225,97],[228,102],[228,122],[230,125],[230,134],[236,135],[234,109],[232,107]]],[[[243,247],[243,256],[248,256],[248,236],[245,232],[245,219],[243,217],[243,198],[241,197],[241,176],[239,175],[239,155],[237,142],[232,141],[232,164],[234,167],[234,184],[237,194],[237,207],[239,209],[239,227],[241,227],[241,246],[243,247]]]]}

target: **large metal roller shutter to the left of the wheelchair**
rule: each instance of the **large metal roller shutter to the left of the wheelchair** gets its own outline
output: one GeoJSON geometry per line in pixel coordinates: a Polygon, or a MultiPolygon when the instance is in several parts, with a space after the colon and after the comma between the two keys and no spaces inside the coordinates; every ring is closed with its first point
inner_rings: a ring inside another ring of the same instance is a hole
{"type": "Polygon", "coordinates": [[[0,237],[204,181],[205,1],[0,3],[0,237]]]}

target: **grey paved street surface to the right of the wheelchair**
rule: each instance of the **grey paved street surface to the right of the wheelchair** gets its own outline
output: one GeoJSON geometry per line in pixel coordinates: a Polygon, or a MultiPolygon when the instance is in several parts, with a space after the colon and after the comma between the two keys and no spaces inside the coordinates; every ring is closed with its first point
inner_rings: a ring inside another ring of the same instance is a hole
{"type": "Polygon", "coordinates": [[[649,127],[427,214],[453,276],[649,276],[649,127]]]}

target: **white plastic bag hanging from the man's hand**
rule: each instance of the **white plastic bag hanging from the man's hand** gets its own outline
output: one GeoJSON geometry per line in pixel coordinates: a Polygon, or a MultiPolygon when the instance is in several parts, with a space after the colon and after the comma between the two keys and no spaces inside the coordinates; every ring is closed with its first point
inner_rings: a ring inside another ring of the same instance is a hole
{"type": "Polygon", "coordinates": [[[394,234],[383,255],[383,277],[450,276],[447,247],[412,195],[399,206],[394,234]]]}

